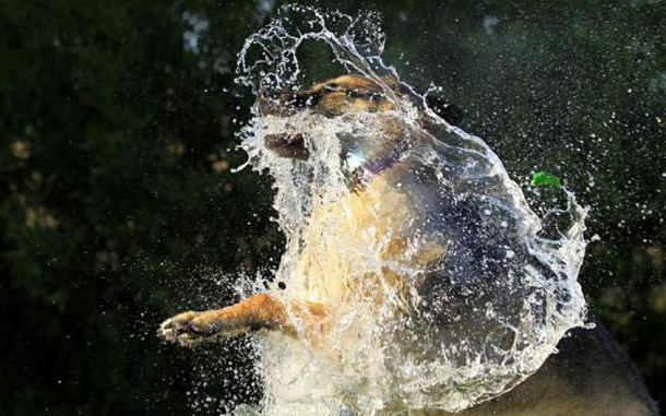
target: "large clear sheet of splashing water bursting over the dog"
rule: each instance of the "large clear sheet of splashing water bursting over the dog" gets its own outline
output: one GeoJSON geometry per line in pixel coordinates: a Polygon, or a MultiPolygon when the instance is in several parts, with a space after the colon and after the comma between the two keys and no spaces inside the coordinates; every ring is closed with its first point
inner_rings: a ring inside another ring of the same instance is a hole
{"type": "Polygon", "coordinates": [[[275,179],[287,287],[275,296],[330,311],[318,336],[290,313],[297,341],[264,338],[264,414],[457,412],[518,385],[584,324],[585,210],[562,189],[562,206],[539,218],[486,143],[383,62],[378,22],[289,7],[239,54],[238,81],[260,94],[304,87],[300,49],[325,46],[393,104],[336,117],[263,117],[255,105],[240,133],[252,168],[275,179]],[[270,134],[301,134],[308,161],[269,151],[270,134]],[[392,168],[378,167],[371,150],[391,140],[400,152],[381,162],[392,168]],[[349,186],[358,171],[362,191],[349,186]]]}

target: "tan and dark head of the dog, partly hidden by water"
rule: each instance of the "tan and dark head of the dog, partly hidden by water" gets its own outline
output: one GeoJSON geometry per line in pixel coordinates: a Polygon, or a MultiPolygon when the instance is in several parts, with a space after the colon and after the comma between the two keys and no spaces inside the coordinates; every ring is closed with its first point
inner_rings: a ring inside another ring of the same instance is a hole
{"type": "MultiPolygon", "coordinates": [[[[397,99],[405,98],[416,97],[391,76],[382,78],[379,83],[362,75],[346,74],[314,84],[311,88],[262,92],[259,109],[263,117],[288,117],[309,110],[335,118],[355,112],[388,112],[395,109],[397,99]]],[[[438,97],[428,95],[427,105],[450,124],[459,124],[462,120],[462,111],[457,107],[438,97]]],[[[296,159],[309,157],[301,133],[269,134],[264,142],[278,156],[296,159]]]]}

